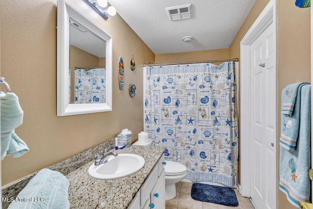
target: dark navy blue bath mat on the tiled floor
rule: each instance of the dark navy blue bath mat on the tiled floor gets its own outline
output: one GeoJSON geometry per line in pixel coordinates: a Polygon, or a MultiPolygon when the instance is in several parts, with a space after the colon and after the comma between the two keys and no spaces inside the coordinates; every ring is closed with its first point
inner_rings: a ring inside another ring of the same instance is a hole
{"type": "Polygon", "coordinates": [[[195,183],[191,187],[191,197],[201,202],[215,203],[224,206],[239,206],[234,189],[223,186],[195,183]]]}

